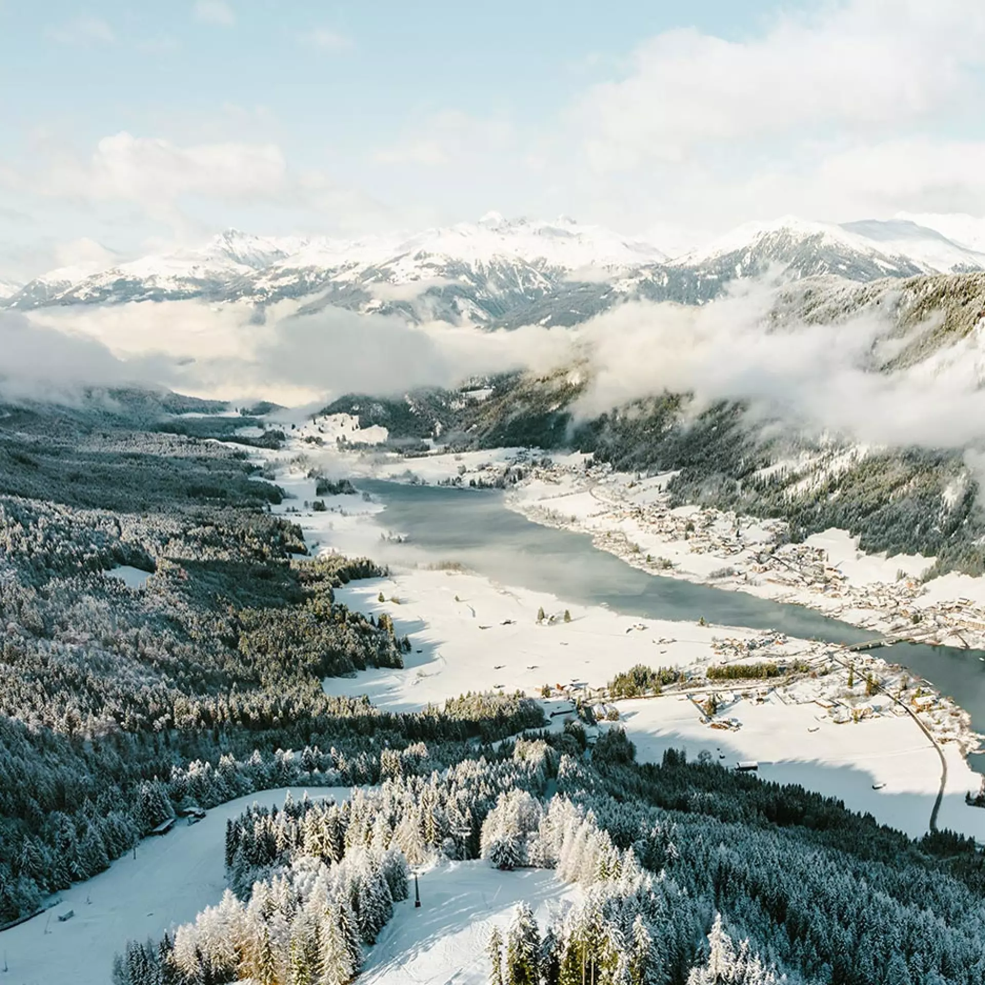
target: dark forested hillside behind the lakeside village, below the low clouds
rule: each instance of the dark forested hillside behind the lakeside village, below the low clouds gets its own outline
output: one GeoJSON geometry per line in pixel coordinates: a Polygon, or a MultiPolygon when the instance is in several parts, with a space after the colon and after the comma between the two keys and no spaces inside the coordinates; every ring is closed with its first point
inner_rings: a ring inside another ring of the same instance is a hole
{"type": "Polygon", "coordinates": [[[398,443],[574,449],[625,472],[676,472],[668,486],[675,505],[784,519],[795,541],[839,527],[864,551],[936,556],[935,574],[985,572],[985,514],[961,449],[860,448],[772,427],[742,401],[697,404],[687,393],[586,418],[577,412],[590,382],[584,365],[486,382],[492,392],[481,401],[433,390],[403,400],[349,396],[323,413],[356,414],[361,427],[381,424],[398,443]]]}

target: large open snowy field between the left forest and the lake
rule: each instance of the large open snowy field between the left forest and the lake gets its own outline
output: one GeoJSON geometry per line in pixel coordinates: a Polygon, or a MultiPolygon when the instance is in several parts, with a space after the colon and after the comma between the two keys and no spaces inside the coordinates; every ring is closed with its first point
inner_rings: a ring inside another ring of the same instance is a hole
{"type": "MultiPolygon", "coordinates": [[[[385,514],[384,514],[385,516],[385,514]]],[[[403,670],[368,670],[329,678],[336,694],[368,694],[394,710],[411,711],[467,690],[521,689],[572,683],[602,688],[635,664],[687,667],[706,659],[721,628],[620,616],[601,607],[567,605],[555,596],[496,585],[460,571],[409,570],[340,590],[340,601],[362,612],[388,613],[414,649],[403,670]],[[386,601],[379,601],[383,593],[386,601]],[[390,601],[400,600],[399,605],[390,601]],[[538,624],[538,609],[561,616],[538,624]],[[571,622],[563,622],[565,609],[571,622]],[[420,651],[420,652],[419,652],[420,651]]],[[[755,638],[753,630],[730,635],[755,638]]]]}

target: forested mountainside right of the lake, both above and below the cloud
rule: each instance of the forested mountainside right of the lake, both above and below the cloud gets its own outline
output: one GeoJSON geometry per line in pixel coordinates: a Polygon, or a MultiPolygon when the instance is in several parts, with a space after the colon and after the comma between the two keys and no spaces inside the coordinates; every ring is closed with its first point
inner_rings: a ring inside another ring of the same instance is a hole
{"type": "MultiPolygon", "coordinates": [[[[762,329],[797,332],[869,313],[882,329],[860,350],[862,363],[853,366],[860,379],[871,373],[890,385],[907,381],[915,393],[923,380],[940,390],[941,380],[953,379],[962,392],[976,379],[985,384],[985,273],[870,284],[805,278],[777,297],[762,329]]],[[[325,412],[357,414],[362,427],[385,424],[392,437],[418,442],[574,448],[623,471],[674,472],[669,489],[679,504],[779,517],[798,539],[839,527],[860,537],[866,551],[937,557],[934,573],[985,573],[980,455],[962,447],[863,445],[801,427],[761,401],[754,409],[742,399],[699,402],[688,392],[654,390],[586,417],[578,401],[591,382],[585,362],[471,380],[461,391],[343,397],[325,412]],[[480,382],[482,399],[471,399],[480,382]]]]}

